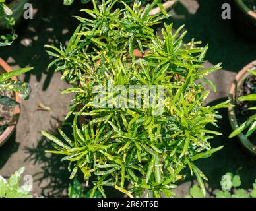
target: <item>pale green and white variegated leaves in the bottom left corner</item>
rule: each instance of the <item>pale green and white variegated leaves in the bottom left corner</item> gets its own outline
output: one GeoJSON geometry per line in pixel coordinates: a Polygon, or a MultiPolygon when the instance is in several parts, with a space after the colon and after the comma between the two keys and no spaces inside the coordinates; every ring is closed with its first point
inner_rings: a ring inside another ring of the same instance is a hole
{"type": "Polygon", "coordinates": [[[30,195],[31,185],[20,186],[20,179],[24,170],[24,167],[18,169],[9,179],[0,176],[0,198],[32,198],[30,195]]]}

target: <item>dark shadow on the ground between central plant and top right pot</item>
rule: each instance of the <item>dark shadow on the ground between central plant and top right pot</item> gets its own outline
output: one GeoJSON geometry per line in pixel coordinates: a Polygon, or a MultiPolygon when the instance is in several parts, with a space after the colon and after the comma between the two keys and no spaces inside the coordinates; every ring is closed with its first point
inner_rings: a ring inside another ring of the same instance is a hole
{"type": "MultiPolygon", "coordinates": [[[[209,44],[206,58],[210,63],[222,62],[224,69],[238,72],[242,67],[255,60],[256,43],[241,37],[232,22],[234,7],[232,6],[232,20],[223,20],[222,4],[232,3],[231,0],[193,0],[188,11],[186,5],[179,2],[175,7],[175,15],[168,22],[174,22],[174,28],[185,24],[188,30],[185,42],[192,38],[209,44]],[[194,8],[193,8],[194,7],[194,8]]],[[[189,1],[186,1],[189,4],[189,1]]],[[[192,2],[192,1],[191,1],[192,2]]],[[[232,4],[231,4],[232,5],[232,4]]],[[[236,24],[236,23],[235,23],[236,24]]]]}

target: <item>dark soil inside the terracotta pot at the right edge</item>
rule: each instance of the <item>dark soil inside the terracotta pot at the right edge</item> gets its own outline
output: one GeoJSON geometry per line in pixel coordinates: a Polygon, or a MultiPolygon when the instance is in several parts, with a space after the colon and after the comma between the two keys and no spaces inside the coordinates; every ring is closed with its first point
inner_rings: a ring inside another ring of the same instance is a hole
{"type": "MultiPolygon", "coordinates": [[[[253,75],[249,76],[245,80],[245,82],[243,82],[243,85],[238,90],[238,98],[240,96],[246,96],[248,94],[256,94],[256,76],[253,76],[253,75]]],[[[236,118],[238,119],[238,125],[241,125],[242,123],[247,121],[249,117],[255,114],[255,111],[248,110],[249,107],[255,107],[255,106],[256,106],[255,101],[243,101],[243,102],[239,100],[236,101],[236,118]]],[[[246,133],[246,132],[247,131],[244,131],[243,133],[246,133]]],[[[251,142],[256,145],[255,133],[253,133],[253,135],[249,137],[249,140],[251,140],[251,142]]]]}

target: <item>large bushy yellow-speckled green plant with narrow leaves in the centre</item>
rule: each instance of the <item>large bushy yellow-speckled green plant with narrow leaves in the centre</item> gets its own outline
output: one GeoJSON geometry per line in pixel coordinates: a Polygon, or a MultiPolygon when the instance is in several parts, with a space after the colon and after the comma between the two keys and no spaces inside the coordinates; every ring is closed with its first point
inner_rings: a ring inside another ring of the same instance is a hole
{"type": "Polygon", "coordinates": [[[207,177],[195,160],[223,147],[211,148],[211,134],[221,134],[205,127],[216,125],[216,109],[230,106],[230,100],[203,106],[210,92],[203,84],[214,87],[205,76],[220,64],[203,69],[208,45],[184,44],[187,32],[178,36],[183,26],[173,34],[172,24],[164,24],[163,36],[154,31],[166,18],[149,15],[157,0],[144,10],[135,1],[133,8],[123,3],[125,9],[112,12],[115,2],[93,3],[93,10],[82,10],[92,20],[76,16],[82,24],[66,47],[46,45],[55,57],[48,68],[55,65],[71,85],[62,93],[75,93],[66,117],[74,117],[73,135],[59,129],[63,141],[42,131],[55,148],[47,152],[69,161],[70,179],[80,169],[93,186],[91,197],[96,191],[106,197],[105,187],[130,197],[172,197],[186,167],[205,195],[207,177]]]}

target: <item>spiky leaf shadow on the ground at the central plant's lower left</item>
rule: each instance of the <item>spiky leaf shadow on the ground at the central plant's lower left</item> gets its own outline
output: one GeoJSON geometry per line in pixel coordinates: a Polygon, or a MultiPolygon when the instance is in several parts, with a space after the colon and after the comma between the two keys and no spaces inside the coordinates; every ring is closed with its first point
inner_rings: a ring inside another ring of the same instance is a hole
{"type": "MultiPolygon", "coordinates": [[[[59,125],[62,123],[59,121],[59,125]]],[[[57,125],[58,126],[58,125],[57,125]]],[[[51,125],[52,135],[59,137],[57,128],[51,125]]],[[[66,134],[71,134],[70,127],[62,125],[62,129],[66,134]]],[[[61,139],[61,138],[60,138],[61,139]]],[[[51,141],[42,136],[38,143],[31,147],[26,147],[26,159],[29,160],[35,166],[40,166],[41,171],[32,175],[34,182],[38,183],[42,193],[38,193],[44,197],[62,197],[67,196],[67,187],[71,181],[69,180],[69,171],[67,170],[67,162],[61,162],[63,156],[56,154],[48,154],[46,150],[53,150],[51,141]]]]}

